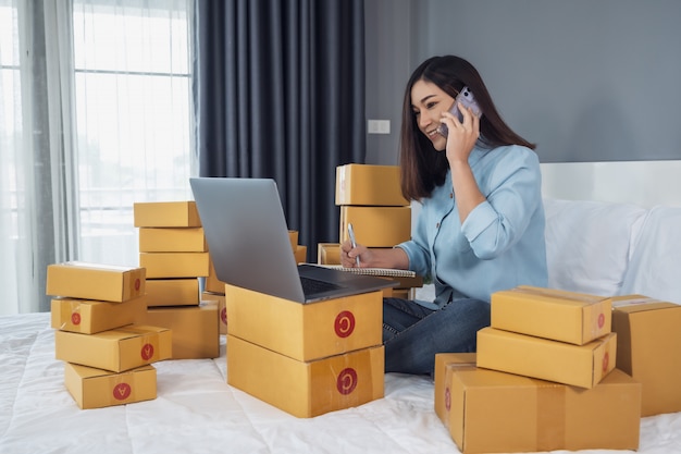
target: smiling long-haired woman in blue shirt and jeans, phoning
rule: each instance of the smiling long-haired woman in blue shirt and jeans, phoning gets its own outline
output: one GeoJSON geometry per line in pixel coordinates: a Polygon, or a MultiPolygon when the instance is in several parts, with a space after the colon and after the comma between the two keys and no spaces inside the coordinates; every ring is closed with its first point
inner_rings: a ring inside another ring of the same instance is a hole
{"type": "Polygon", "coordinates": [[[432,373],[438,352],[474,352],[491,294],[546,286],[541,173],[534,145],[499,116],[466,60],[433,57],[411,75],[400,136],[401,191],[422,204],[411,241],[392,249],[342,245],[345,267],[410,269],[432,280],[433,302],[384,298],[386,372],[432,373]],[[468,87],[482,115],[462,103],[468,87]],[[442,124],[447,132],[438,132],[442,124]],[[446,135],[446,136],[445,136],[446,135]]]}

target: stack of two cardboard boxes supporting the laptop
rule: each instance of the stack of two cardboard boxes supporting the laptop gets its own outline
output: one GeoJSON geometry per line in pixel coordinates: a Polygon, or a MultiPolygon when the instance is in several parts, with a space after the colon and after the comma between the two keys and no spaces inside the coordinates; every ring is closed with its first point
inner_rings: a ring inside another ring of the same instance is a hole
{"type": "Polygon", "coordinates": [[[227,383],[301,418],[383,397],[382,297],[300,304],[227,284],[227,383]]]}

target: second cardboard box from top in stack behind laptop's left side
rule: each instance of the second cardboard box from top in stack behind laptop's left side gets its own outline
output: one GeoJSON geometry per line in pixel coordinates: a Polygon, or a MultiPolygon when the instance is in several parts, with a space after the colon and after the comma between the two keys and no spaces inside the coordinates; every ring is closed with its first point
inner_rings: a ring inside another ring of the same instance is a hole
{"type": "Polygon", "coordinates": [[[205,253],[203,228],[139,228],[140,253],[205,253]]]}

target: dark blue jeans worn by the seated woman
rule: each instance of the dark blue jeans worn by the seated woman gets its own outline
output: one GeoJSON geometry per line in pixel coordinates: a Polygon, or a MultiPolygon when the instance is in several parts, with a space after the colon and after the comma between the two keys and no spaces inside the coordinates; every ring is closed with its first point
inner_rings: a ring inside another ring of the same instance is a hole
{"type": "Polygon", "coordinates": [[[490,303],[455,299],[438,310],[383,298],[385,371],[433,373],[436,353],[475,352],[478,330],[490,326],[490,303]]]}

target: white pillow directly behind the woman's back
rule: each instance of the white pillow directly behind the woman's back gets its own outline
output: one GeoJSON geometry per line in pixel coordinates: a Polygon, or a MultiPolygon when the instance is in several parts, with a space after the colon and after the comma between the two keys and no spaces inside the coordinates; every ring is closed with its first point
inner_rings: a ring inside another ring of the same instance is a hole
{"type": "Polygon", "coordinates": [[[632,236],[646,210],[630,204],[545,199],[548,285],[620,294],[632,236]]]}

